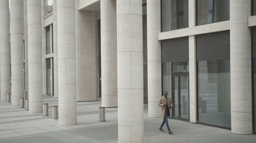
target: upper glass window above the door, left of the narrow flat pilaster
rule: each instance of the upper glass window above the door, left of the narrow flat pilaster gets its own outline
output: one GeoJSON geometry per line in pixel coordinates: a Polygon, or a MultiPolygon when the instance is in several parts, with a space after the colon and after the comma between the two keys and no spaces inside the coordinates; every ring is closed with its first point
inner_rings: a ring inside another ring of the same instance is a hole
{"type": "Polygon", "coordinates": [[[162,0],[162,32],[188,27],[188,0],[162,0]]]}

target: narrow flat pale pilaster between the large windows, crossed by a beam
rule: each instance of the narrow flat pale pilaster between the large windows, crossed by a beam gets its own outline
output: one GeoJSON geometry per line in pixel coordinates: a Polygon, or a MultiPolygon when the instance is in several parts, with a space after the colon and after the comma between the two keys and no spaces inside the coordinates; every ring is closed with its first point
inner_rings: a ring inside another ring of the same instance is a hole
{"type": "MultiPolygon", "coordinates": [[[[196,0],[188,1],[188,26],[196,26],[196,0]]],[[[189,50],[189,122],[197,123],[196,37],[188,37],[189,50]]]]}

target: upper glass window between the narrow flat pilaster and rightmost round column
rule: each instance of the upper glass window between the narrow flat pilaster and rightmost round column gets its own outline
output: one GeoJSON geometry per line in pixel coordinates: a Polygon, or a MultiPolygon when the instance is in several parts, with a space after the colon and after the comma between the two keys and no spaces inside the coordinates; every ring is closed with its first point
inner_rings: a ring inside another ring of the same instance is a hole
{"type": "Polygon", "coordinates": [[[197,25],[229,20],[229,0],[197,0],[197,25]]]}

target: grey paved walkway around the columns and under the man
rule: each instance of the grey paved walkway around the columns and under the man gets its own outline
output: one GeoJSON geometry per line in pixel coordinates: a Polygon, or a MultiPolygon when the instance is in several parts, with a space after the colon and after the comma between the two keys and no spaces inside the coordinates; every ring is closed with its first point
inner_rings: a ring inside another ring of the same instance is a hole
{"type": "MultiPolygon", "coordinates": [[[[75,126],[59,126],[58,120],[51,119],[50,106],[57,105],[57,99],[44,96],[49,103],[49,117],[42,114],[29,115],[24,108],[13,107],[0,102],[0,142],[1,143],[103,143],[118,142],[117,108],[106,109],[106,122],[98,122],[100,101],[77,102],[77,122],[75,126]]],[[[144,105],[144,142],[203,142],[240,143],[256,142],[256,135],[236,135],[230,130],[170,120],[174,134],[160,132],[161,118],[148,118],[147,105],[144,105]]],[[[166,127],[163,128],[167,130],[166,127]]]]}

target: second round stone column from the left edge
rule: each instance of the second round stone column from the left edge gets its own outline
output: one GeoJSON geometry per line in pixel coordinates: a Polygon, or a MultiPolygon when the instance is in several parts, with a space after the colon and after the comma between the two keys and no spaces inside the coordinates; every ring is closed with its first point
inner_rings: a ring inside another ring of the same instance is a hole
{"type": "Polygon", "coordinates": [[[12,105],[23,97],[23,1],[10,0],[12,105]]]}

